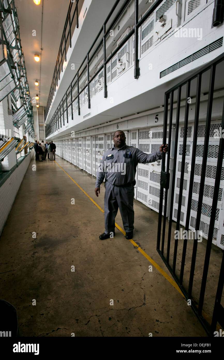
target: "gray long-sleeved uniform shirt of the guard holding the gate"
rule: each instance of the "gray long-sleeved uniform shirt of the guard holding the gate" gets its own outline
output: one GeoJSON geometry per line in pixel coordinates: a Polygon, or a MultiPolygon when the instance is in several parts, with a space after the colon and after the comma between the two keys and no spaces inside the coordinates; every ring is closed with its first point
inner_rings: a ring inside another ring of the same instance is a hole
{"type": "Polygon", "coordinates": [[[143,151],[124,145],[121,149],[115,147],[107,150],[99,163],[96,174],[96,187],[106,180],[116,186],[133,183],[138,163],[147,164],[162,158],[162,153],[146,154],[143,151]],[[124,156],[125,155],[125,156],[124,156]]]}

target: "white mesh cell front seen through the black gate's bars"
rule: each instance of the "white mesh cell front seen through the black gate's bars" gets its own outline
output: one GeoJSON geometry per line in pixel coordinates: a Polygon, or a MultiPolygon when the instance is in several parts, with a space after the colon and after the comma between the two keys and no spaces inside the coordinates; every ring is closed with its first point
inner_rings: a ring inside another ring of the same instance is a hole
{"type": "MultiPolygon", "coordinates": [[[[205,138],[205,122],[198,122],[198,136],[197,136],[197,147],[196,147],[196,159],[195,159],[195,174],[193,181],[193,191],[191,199],[191,212],[190,212],[190,224],[189,229],[195,230],[196,217],[197,217],[197,207],[198,207],[198,196],[200,192],[200,182],[201,182],[201,167],[202,167],[202,157],[204,152],[204,138],[205,138]]],[[[219,132],[221,127],[221,120],[211,120],[210,134],[209,134],[209,145],[208,145],[208,155],[207,155],[207,165],[205,173],[205,185],[204,185],[204,194],[202,200],[202,209],[201,209],[201,220],[199,230],[202,236],[207,239],[209,224],[211,218],[211,207],[212,199],[214,194],[215,186],[215,174],[216,174],[216,163],[218,158],[218,148],[219,148],[219,137],[214,137],[216,131],[219,132]]],[[[187,129],[187,143],[185,150],[185,166],[184,166],[184,178],[183,178],[183,194],[182,194],[182,207],[180,213],[180,224],[186,225],[186,215],[187,215],[187,198],[189,192],[189,183],[190,183],[190,174],[191,174],[191,158],[192,158],[192,146],[193,146],[193,133],[194,133],[194,124],[189,123],[187,129]]],[[[176,183],[174,189],[174,206],[173,206],[173,220],[177,221],[178,213],[178,200],[179,200],[179,189],[181,186],[180,175],[182,167],[182,154],[183,154],[183,135],[184,135],[184,125],[179,125],[178,132],[178,147],[177,147],[177,167],[176,167],[176,183]]],[[[222,163],[224,166],[224,163],[222,163]]],[[[223,168],[224,170],[224,168],[223,168]]],[[[224,174],[223,174],[224,175],[224,174]]],[[[224,181],[223,177],[220,179],[219,186],[219,196],[218,203],[216,207],[215,215],[215,226],[212,236],[212,243],[221,246],[220,234],[223,233],[223,221],[221,220],[223,213],[223,190],[224,190],[224,181]],[[218,237],[219,232],[219,237],[218,237]],[[218,239],[217,239],[218,238],[218,239]]]]}

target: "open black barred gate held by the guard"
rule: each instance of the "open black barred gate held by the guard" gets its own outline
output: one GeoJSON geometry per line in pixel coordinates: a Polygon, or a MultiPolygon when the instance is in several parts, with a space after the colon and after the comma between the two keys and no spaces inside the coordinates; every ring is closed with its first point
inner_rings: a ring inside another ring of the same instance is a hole
{"type": "Polygon", "coordinates": [[[224,329],[223,69],[224,54],[165,93],[157,233],[157,251],[209,336],[224,329]]]}

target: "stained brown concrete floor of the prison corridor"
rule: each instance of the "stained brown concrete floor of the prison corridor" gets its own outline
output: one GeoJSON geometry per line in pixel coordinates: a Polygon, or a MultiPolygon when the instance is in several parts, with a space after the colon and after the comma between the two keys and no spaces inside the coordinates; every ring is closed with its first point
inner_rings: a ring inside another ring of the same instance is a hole
{"type": "MultiPolygon", "coordinates": [[[[56,162],[104,208],[104,186],[97,198],[94,177],[56,162]]],[[[133,240],[169,274],[156,251],[158,214],[137,201],[134,210],[133,240]]],[[[116,222],[123,228],[120,214],[116,222]]],[[[0,239],[0,298],[17,309],[19,336],[206,336],[137,248],[118,229],[104,241],[103,232],[104,214],[86,194],[55,162],[33,157],[0,239]]]]}

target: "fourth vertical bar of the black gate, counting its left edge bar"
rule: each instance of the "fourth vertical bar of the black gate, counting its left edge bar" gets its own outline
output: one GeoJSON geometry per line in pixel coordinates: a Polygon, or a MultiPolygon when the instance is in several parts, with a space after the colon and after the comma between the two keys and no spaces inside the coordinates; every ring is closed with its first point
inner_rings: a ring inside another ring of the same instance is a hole
{"type": "MultiPolygon", "coordinates": [[[[186,158],[186,148],[187,148],[187,126],[188,126],[188,114],[189,114],[189,96],[190,96],[190,87],[191,81],[187,82],[186,89],[186,103],[185,103],[185,116],[184,116],[184,136],[183,136],[183,148],[182,148],[182,164],[180,172],[180,188],[179,188],[179,199],[178,199],[178,210],[177,210],[177,225],[176,230],[180,229],[180,212],[182,206],[182,195],[183,195],[183,181],[184,181],[184,169],[185,169],[185,158],[186,158]]],[[[173,199],[173,198],[172,198],[173,199]]],[[[178,248],[179,239],[175,239],[174,242],[174,253],[173,253],[173,272],[175,273],[176,261],[177,261],[177,248],[178,248]]]]}

